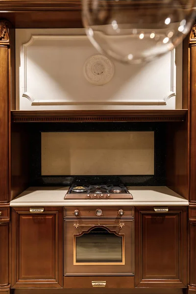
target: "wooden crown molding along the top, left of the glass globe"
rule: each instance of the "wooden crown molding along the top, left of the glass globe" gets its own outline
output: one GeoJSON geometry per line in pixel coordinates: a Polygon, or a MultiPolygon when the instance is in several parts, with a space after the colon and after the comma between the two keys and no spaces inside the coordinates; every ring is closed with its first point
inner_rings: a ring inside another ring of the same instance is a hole
{"type": "Polygon", "coordinates": [[[1,11],[81,10],[80,0],[1,0],[1,11]]]}

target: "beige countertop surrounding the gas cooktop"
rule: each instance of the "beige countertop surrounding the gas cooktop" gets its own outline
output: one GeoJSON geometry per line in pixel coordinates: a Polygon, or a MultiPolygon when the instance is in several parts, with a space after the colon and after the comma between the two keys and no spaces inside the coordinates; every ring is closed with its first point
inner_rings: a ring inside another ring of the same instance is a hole
{"type": "Polygon", "coordinates": [[[128,187],[129,200],[64,200],[69,187],[29,187],[10,202],[10,206],[188,206],[189,202],[165,186],[128,187]]]}

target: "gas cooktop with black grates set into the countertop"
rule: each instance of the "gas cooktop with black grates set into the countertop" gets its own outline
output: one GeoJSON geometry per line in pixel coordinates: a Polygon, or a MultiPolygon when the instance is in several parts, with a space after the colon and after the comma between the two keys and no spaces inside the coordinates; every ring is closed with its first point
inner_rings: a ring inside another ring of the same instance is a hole
{"type": "Polygon", "coordinates": [[[64,199],[133,199],[123,184],[72,185],[64,199]]]}

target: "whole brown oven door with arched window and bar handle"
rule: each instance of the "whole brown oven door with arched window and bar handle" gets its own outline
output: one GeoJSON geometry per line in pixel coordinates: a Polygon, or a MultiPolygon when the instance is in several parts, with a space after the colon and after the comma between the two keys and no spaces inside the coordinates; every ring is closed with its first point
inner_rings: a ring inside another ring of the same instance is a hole
{"type": "Polygon", "coordinates": [[[65,220],[65,275],[133,275],[134,220],[65,220]]]}

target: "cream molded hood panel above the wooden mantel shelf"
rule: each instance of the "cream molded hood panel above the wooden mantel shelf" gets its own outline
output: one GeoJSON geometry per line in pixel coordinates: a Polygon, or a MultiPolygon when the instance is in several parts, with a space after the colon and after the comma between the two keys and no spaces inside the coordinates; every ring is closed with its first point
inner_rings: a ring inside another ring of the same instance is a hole
{"type": "MultiPolygon", "coordinates": [[[[83,29],[16,29],[17,109],[181,108],[182,52],[177,50],[176,97],[175,50],[146,65],[112,61],[114,74],[100,85],[84,73],[98,51],[83,29]]],[[[100,74],[104,64],[97,62],[100,74]]]]}

